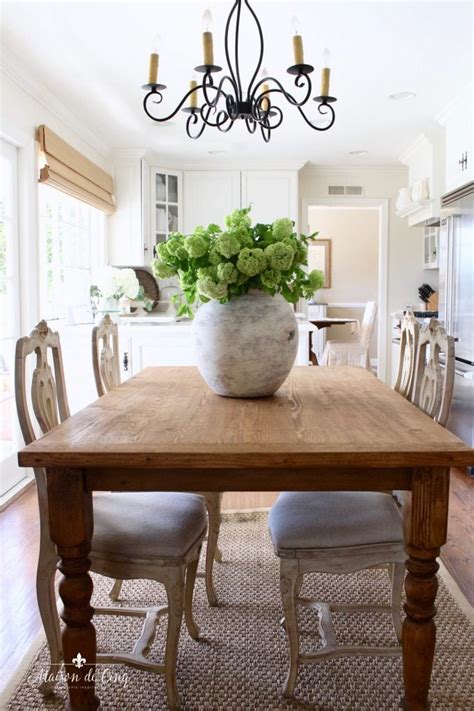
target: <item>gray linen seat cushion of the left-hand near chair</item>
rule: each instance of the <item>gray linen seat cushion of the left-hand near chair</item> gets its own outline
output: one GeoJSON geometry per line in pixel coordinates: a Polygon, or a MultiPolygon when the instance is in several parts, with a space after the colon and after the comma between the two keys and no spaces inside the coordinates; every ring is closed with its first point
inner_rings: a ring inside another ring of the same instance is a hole
{"type": "Polygon", "coordinates": [[[182,558],[207,527],[204,499],[181,493],[94,496],[92,556],[182,558]]]}

